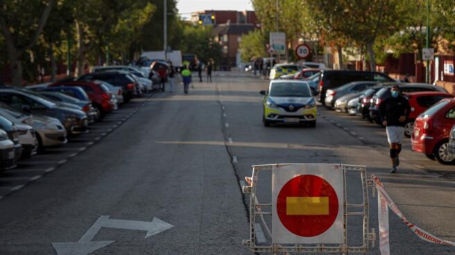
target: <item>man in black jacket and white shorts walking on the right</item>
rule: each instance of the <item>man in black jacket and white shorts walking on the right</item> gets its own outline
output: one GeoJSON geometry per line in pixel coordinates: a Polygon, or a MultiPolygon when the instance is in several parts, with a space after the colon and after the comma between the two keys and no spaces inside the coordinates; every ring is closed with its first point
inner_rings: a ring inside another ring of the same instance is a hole
{"type": "Polygon", "coordinates": [[[384,100],[379,107],[382,125],[386,127],[387,141],[390,148],[392,169],[390,173],[397,172],[400,166],[400,152],[404,136],[404,125],[408,121],[411,106],[408,100],[400,94],[400,87],[393,85],[390,88],[390,98],[384,100]]]}

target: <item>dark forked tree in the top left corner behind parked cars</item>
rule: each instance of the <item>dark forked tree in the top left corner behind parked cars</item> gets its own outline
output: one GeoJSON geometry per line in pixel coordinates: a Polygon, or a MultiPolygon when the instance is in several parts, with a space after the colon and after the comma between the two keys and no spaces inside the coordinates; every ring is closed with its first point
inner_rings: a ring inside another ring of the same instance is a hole
{"type": "Polygon", "coordinates": [[[36,44],[49,18],[54,0],[0,1],[0,27],[12,69],[12,84],[23,83],[22,56],[36,44]],[[31,15],[42,10],[40,17],[31,15]]]}

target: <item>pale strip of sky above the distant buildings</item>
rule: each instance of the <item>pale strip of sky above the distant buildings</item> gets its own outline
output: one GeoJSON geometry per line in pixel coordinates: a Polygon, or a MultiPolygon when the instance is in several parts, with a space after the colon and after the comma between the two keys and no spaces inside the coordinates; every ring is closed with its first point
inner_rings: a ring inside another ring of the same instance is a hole
{"type": "Polygon", "coordinates": [[[189,18],[198,10],[252,10],[250,0],[178,0],[178,12],[189,18]]]}

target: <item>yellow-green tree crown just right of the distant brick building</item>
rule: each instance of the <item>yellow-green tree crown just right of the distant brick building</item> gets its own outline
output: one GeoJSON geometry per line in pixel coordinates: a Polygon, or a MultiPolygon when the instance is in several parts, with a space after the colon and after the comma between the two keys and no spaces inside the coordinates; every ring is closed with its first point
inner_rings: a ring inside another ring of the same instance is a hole
{"type": "Polygon", "coordinates": [[[241,37],[240,49],[243,62],[250,62],[252,58],[268,55],[266,51],[267,36],[262,30],[254,30],[241,37]]]}

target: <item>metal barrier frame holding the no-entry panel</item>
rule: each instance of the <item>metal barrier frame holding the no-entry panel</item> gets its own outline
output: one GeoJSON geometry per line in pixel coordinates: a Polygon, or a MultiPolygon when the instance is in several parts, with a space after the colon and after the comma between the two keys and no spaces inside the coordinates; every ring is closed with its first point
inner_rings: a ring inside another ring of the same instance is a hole
{"type": "MultiPolygon", "coordinates": [[[[252,166],[252,176],[246,177],[246,182],[248,186],[243,186],[243,194],[250,194],[250,237],[247,240],[243,240],[243,245],[246,245],[250,248],[252,252],[273,252],[273,253],[298,253],[298,252],[337,252],[337,253],[347,253],[347,252],[368,252],[370,247],[375,247],[376,234],[375,229],[368,231],[368,222],[369,222],[369,204],[368,204],[368,186],[372,186],[372,180],[367,179],[366,175],[366,166],[353,166],[353,165],[343,165],[341,164],[341,170],[343,170],[343,184],[344,184],[344,243],[342,244],[289,244],[282,245],[272,242],[258,242],[258,236],[265,236],[264,231],[259,231],[259,228],[264,228],[266,234],[269,238],[272,236],[271,227],[269,227],[268,220],[272,218],[272,202],[270,203],[260,203],[257,198],[257,186],[259,173],[264,173],[269,171],[272,172],[273,166],[287,166],[290,164],[271,164],[271,165],[257,165],[252,166]],[[361,189],[363,195],[363,202],[360,204],[350,204],[347,202],[347,190],[346,190],[346,174],[347,173],[359,173],[361,177],[361,189]],[[355,210],[358,211],[355,211],[355,210]],[[361,217],[363,222],[363,234],[362,234],[362,244],[359,246],[348,245],[347,243],[347,219],[349,217],[361,217]]],[[[265,238],[261,238],[265,239],[265,238]]]]}

